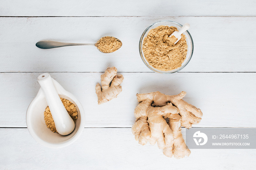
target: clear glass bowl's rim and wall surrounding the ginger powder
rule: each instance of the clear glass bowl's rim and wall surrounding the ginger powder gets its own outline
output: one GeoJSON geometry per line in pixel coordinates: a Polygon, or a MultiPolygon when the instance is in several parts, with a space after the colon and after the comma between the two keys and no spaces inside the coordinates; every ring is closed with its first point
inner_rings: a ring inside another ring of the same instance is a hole
{"type": "Polygon", "coordinates": [[[147,36],[148,32],[151,30],[151,29],[154,29],[158,26],[173,26],[173,27],[176,27],[178,30],[181,29],[182,25],[179,24],[179,23],[176,23],[176,22],[173,22],[173,21],[167,21],[167,20],[163,20],[163,21],[158,21],[158,22],[155,22],[153,23],[151,26],[147,27],[147,29],[143,32],[142,36],[140,37],[140,43],[139,43],[139,51],[140,51],[140,57],[142,59],[142,61],[144,62],[144,64],[150,68],[151,70],[153,70],[154,72],[157,72],[157,73],[161,73],[161,74],[170,74],[170,73],[175,73],[175,72],[178,72],[180,71],[181,69],[183,69],[187,64],[188,62],[190,61],[191,57],[192,57],[192,54],[193,54],[193,49],[194,49],[194,45],[193,45],[193,40],[192,40],[192,37],[191,35],[189,34],[188,31],[185,31],[183,34],[185,35],[186,37],[186,41],[187,41],[187,45],[188,45],[188,52],[187,52],[187,56],[186,56],[186,59],[185,61],[181,64],[181,67],[177,68],[177,69],[174,69],[174,70],[170,70],[170,71],[162,71],[162,70],[158,70],[158,69],[155,69],[154,67],[152,67],[151,65],[149,65],[147,59],[145,58],[144,56],[144,53],[143,53],[143,50],[142,50],[142,47],[143,47],[143,41],[144,41],[144,38],[147,36]]]}

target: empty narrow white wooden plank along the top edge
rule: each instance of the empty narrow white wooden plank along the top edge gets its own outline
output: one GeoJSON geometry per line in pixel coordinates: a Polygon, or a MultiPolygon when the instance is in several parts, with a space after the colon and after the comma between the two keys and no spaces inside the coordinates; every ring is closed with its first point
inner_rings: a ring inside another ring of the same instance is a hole
{"type": "Polygon", "coordinates": [[[1,0],[0,16],[256,16],[253,0],[1,0]]]}

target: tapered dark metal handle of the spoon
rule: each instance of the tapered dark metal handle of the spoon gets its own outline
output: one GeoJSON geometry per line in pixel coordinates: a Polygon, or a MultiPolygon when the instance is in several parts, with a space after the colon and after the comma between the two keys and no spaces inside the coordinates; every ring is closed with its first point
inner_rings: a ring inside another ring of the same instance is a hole
{"type": "Polygon", "coordinates": [[[64,43],[50,40],[39,41],[35,44],[40,49],[53,49],[57,47],[65,47],[65,46],[82,46],[82,45],[90,45],[95,46],[93,43],[64,43]]]}

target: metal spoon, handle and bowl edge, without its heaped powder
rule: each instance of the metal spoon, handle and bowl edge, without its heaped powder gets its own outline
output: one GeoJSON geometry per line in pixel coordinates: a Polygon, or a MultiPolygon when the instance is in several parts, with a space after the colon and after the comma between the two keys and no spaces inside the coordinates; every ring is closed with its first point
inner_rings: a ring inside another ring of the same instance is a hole
{"type": "MultiPolygon", "coordinates": [[[[117,38],[115,38],[115,39],[117,41],[119,41],[121,43],[121,46],[122,46],[122,42],[117,38]]],[[[88,46],[95,46],[99,51],[101,51],[98,47],[98,42],[95,43],[95,44],[94,43],[64,43],[64,42],[57,42],[57,41],[51,41],[51,40],[43,40],[43,41],[37,42],[35,45],[40,49],[53,49],[53,48],[65,47],[65,46],[87,46],[88,45],[88,46]]],[[[118,50],[120,47],[118,47],[114,51],[118,50]]],[[[109,53],[112,53],[114,51],[111,51],[109,53]]],[[[103,52],[103,51],[101,51],[101,52],[102,53],[107,53],[107,52],[103,52]]]]}

